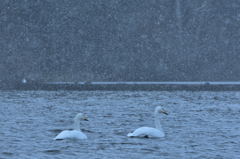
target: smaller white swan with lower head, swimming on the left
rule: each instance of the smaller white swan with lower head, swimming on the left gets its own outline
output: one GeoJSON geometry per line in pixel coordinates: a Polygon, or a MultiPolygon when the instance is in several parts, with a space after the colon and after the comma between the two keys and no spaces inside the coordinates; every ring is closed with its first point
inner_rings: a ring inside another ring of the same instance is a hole
{"type": "Polygon", "coordinates": [[[82,113],[78,113],[74,118],[74,130],[64,130],[54,140],[87,139],[87,136],[80,129],[80,120],[87,120],[87,117],[82,113]]]}

